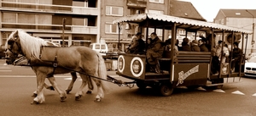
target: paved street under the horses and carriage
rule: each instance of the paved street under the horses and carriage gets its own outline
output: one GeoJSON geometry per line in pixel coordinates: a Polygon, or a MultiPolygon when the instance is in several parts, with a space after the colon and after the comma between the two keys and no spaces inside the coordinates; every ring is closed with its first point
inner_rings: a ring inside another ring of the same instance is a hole
{"type": "MultiPolygon", "coordinates": [[[[2,61],[2,60],[1,60],[2,61]]],[[[152,88],[140,91],[137,86],[128,88],[109,83],[111,91],[102,102],[94,102],[96,91],[80,101],[74,100],[79,89],[78,80],[66,102],[60,102],[56,91],[44,90],[45,102],[34,104],[32,92],[36,89],[36,78],[29,67],[3,65],[0,61],[0,116],[29,115],[94,115],[94,116],[253,116],[256,108],[256,79],[242,78],[241,82],[224,85],[219,90],[188,90],[178,88],[170,97],[160,97],[152,88]]],[[[108,71],[115,75],[114,71],[108,71]]],[[[117,77],[119,80],[124,78],[117,77]]],[[[56,75],[63,89],[70,82],[70,75],[56,75]]],[[[46,81],[48,82],[48,80],[46,81]]],[[[87,91],[87,90],[84,90],[87,91]]]]}

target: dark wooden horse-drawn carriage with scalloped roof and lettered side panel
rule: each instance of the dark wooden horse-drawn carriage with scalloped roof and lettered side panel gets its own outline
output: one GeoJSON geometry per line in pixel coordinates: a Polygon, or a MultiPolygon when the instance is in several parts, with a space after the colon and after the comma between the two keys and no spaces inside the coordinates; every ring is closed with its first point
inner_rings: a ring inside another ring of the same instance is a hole
{"type": "MultiPolygon", "coordinates": [[[[218,25],[194,19],[183,19],[163,14],[136,14],[115,19],[113,23],[129,22],[145,28],[145,37],[148,38],[148,28],[172,30],[172,49],[175,46],[177,28],[197,32],[212,31],[212,33],[231,33],[241,35],[243,50],[244,38],[251,31],[241,30],[226,25],[218,25]]],[[[196,34],[195,34],[196,36],[196,34]]],[[[212,36],[213,38],[213,36],[212,36]]],[[[164,40],[164,38],[163,38],[164,40]]],[[[234,41],[233,41],[234,42],[234,41]]],[[[231,56],[232,57],[232,56],[231,56]]],[[[230,72],[230,63],[220,65],[218,75],[211,74],[212,52],[164,52],[163,57],[158,59],[160,74],[146,71],[146,56],[137,54],[119,53],[117,75],[135,80],[139,88],[146,86],[157,87],[161,95],[170,96],[177,86],[198,87],[215,86],[220,88],[226,82],[240,81],[243,72],[243,59],[239,64],[239,71],[230,72]]],[[[220,62],[221,63],[221,62],[220,62]]]]}

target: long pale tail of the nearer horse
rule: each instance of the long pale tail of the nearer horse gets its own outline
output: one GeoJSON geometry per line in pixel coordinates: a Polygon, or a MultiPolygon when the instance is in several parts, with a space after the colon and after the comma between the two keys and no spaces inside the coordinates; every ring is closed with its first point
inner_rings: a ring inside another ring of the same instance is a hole
{"type": "Polygon", "coordinates": [[[103,80],[101,81],[102,83],[102,89],[103,91],[108,91],[108,83],[107,81],[107,69],[106,69],[106,65],[105,65],[105,61],[104,59],[102,58],[102,55],[97,52],[97,56],[98,56],[98,76],[100,78],[102,78],[103,80]]]}

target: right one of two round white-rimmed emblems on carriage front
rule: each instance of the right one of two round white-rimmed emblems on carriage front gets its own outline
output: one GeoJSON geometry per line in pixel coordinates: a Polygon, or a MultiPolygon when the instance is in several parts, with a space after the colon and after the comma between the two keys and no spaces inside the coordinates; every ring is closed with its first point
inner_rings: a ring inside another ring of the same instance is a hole
{"type": "Polygon", "coordinates": [[[143,60],[141,58],[135,57],[131,60],[131,74],[133,76],[139,77],[143,74],[143,60]]]}

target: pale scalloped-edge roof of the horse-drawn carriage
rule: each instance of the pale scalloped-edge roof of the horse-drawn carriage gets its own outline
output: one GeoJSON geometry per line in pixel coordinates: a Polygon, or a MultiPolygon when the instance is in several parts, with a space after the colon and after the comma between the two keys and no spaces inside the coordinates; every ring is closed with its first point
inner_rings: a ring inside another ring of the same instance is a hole
{"type": "Polygon", "coordinates": [[[121,22],[130,22],[130,23],[136,23],[139,24],[141,27],[152,27],[152,28],[165,28],[166,30],[172,29],[172,24],[176,23],[177,28],[183,28],[186,30],[214,30],[217,32],[222,32],[225,30],[228,31],[234,31],[239,33],[252,33],[251,30],[245,30],[241,28],[231,27],[227,25],[219,25],[211,22],[205,22],[195,19],[185,19],[170,15],[164,15],[164,14],[134,14],[125,16],[119,19],[114,19],[113,23],[121,23],[121,22]],[[147,22],[149,21],[149,22],[147,22]]]}

